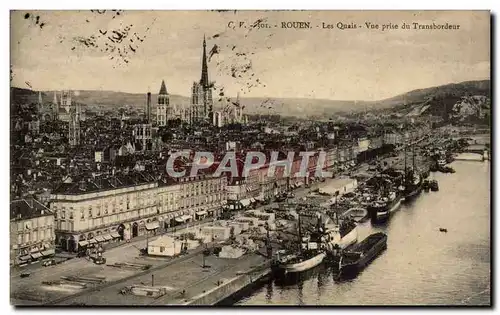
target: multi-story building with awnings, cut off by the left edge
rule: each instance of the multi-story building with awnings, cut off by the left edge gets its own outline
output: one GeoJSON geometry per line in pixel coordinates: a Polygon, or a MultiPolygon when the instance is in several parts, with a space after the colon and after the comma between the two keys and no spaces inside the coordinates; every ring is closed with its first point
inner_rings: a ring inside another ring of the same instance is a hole
{"type": "Polygon", "coordinates": [[[54,255],[54,215],[35,199],[10,203],[10,264],[54,255]]]}

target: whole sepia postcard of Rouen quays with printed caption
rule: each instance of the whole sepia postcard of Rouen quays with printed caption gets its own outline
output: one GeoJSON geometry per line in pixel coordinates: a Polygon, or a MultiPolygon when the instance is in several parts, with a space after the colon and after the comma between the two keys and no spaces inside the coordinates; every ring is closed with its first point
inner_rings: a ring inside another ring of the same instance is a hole
{"type": "Polygon", "coordinates": [[[491,306],[489,11],[16,10],[16,306],[491,306]]]}

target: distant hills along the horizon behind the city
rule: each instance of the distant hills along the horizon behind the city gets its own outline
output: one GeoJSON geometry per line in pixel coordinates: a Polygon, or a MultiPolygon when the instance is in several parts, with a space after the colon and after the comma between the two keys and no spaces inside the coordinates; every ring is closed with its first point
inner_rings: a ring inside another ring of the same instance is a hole
{"type": "MultiPolygon", "coordinates": [[[[11,91],[14,103],[36,102],[38,100],[37,92],[31,90],[12,88],[11,91]]],[[[86,104],[89,108],[113,108],[127,105],[144,108],[146,105],[145,93],[84,90],[79,91],[78,94],[78,96],[74,96],[74,99],[79,103],[86,104]]],[[[156,104],[157,96],[157,94],[152,94],[153,106],[156,104]]],[[[339,112],[391,109],[405,116],[436,115],[447,118],[454,113],[455,104],[465,96],[485,96],[490,99],[490,81],[467,81],[418,89],[380,101],[353,102],[308,98],[249,97],[241,98],[240,103],[245,106],[245,111],[249,114],[329,117],[339,112]]],[[[52,101],[53,92],[43,92],[42,99],[44,102],[52,101]]],[[[225,107],[227,102],[224,98],[220,101],[216,95],[214,95],[214,101],[215,109],[225,107]]],[[[182,95],[170,95],[170,102],[188,106],[190,98],[182,95]]]]}

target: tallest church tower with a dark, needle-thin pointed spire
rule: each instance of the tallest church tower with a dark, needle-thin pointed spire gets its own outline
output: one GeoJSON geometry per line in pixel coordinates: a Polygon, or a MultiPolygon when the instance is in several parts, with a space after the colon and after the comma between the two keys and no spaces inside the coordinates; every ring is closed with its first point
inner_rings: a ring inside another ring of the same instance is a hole
{"type": "Polygon", "coordinates": [[[190,122],[196,124],[200,121],[213,120],[212,84],[208,80],[207,42],[203,37],[203,53],[201,57],[201,78],[193,82],[191,89],[190,122]]]}

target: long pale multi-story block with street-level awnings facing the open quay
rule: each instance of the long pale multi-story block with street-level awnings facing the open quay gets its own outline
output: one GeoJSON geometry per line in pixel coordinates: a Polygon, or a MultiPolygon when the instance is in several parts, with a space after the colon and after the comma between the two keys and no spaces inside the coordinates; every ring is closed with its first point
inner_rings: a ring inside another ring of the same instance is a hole
{"type": "Polygon", "coordinates": [[[145,172],[63,184],[51,196],[56,242],[78,251],[218,215],[224,189],[225,178],[157,180],[145,172]]]}

